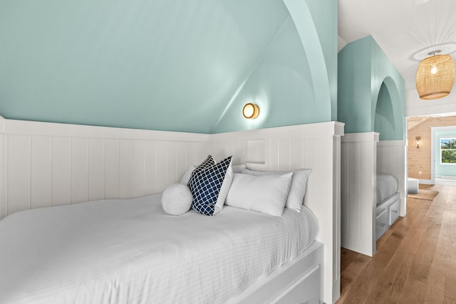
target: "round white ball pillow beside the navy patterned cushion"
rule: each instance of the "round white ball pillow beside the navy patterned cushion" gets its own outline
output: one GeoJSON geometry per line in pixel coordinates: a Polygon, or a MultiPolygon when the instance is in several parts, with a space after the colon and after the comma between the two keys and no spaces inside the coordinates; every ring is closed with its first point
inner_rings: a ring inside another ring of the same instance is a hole
{"type": "Polygon", "coordinates": [[[162,207],[167,214],[185,214],[190,210],[192,201],[192,192],[186,184],[170,184],[162,193],[162,207]]]}

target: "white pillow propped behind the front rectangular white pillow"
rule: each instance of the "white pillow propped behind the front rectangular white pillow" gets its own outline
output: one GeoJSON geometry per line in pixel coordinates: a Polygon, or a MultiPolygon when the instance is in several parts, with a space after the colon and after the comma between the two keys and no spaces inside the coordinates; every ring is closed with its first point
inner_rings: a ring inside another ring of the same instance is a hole
{"type": "Polygon", "coordinates": [[[286,208],[301,212],[304,196],[306,195],[307,179],[309,179],[309,175],[312,172],[311,169],[297,169],[292,171],[254,171],[244,169],[241,173],[259,176],[265,174],[285,174],[289,172],[293,172],[293,178],[285,206],[286,208]]]}

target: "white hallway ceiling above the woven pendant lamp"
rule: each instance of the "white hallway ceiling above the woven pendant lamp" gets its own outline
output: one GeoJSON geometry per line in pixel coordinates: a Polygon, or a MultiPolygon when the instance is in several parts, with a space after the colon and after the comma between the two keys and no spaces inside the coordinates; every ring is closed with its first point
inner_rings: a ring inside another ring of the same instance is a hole
{"type": "Polygon", "coordinates": [[[455,0],[338,0],[338,4],[339,49],[373,36],[405,79],[406,91],[416,88],[420,59],[415,54],[441,49],[451,52],[456,61],[455,0]]]}

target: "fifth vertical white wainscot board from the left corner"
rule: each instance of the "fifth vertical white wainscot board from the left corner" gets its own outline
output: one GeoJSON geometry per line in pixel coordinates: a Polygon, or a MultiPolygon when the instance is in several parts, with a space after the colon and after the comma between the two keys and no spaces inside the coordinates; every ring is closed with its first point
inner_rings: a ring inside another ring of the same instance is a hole
{"type": "Polygon", "coordinates": [[[105,140],[88,139],[88,200],[105,199],[105,140]]]}

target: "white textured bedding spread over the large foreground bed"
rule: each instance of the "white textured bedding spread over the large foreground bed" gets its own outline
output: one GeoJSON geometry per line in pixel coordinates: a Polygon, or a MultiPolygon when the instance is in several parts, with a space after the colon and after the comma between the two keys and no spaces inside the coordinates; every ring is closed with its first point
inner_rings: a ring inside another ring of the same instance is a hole
{"type": "Polygon", "coordinates": [[[0,303],[224,303],[314,241],[309,209],[165,214],[160,194],[0,221],[0,303]]]}

